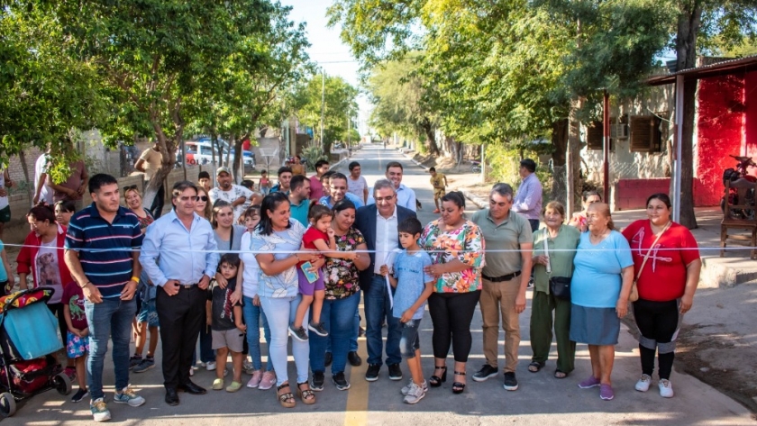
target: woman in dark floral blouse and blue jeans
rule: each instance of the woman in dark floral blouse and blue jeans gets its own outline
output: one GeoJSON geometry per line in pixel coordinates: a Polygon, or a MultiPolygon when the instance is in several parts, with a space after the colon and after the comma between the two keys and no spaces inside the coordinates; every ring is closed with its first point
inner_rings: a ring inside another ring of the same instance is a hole
{"type": "Polygon", "coordinates": [[[338,251],[349,252],[350,258],[326,257],[324,284],[326,296],[321,312],[321,321],[329,331],[328,337],[310,335],[310,369],[313,370],[313,390],[324,388],[324,358],[328,341],[331,340],[333,353],[332,379],[336,388],[343,391],[350,388],[344,377],[347,353],[350,350],[352,328],[355,325],[355,311],[360,303],[360,281],[358,271],[369,267],[370,258],[360,231],[352,228],[355,222],[355,204],[342,200],[333,206],[332,228],[338,251]]]}

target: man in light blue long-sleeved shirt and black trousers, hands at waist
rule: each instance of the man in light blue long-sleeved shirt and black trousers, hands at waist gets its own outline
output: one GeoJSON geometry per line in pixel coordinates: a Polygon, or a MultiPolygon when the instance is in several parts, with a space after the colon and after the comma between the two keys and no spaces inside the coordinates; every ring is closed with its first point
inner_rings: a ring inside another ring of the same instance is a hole
{"type": "Polygon", "coordinates": [[[155,304],[169,405],[178,404],[178,390],[205,394],[205,389],[189,380],[189,368],[205,322],[204,290],[215,276],[218,254],[210,222],[195,213],[196,201],[195,184],[184,181],[174,185],[174,209],[148,226],[140,255],[150,280],[160,286],[155,304]]]}

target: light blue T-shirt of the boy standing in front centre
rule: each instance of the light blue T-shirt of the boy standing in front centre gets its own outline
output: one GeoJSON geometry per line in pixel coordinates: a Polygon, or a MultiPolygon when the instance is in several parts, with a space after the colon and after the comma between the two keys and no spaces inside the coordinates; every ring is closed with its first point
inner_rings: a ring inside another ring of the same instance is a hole
{"type": "MultiPolygon", "coordinates": [[[[395,318],[401,318],[405,311],[413,307],[424,292],[425,283],[436,282],[433,276],[424,272],[424,267],[429,266],[431,257],[424,250],[410,254],[405,249],[397,255],[393,273],[397,278],[397,290],[392,307],[392,315],[395,318]]],[[[423,319],[424,306],[425,302],[418,306],[418,310],[413,313],[414,320],[423,319]]]]}

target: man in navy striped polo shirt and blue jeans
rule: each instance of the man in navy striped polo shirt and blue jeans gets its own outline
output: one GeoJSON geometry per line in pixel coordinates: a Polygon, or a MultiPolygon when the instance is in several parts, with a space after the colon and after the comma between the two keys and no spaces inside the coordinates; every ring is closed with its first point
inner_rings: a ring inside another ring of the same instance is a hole
{"type": "Polygon", "coordinates": [[[113,339],[115,403],[132,407],[144,398],[129,387],[129,341],[137,310],[134,293],[139,285],[142,233],[131,210],[119,205],[118,181],[98,174],[89,179],[93,203],[71,217],[66,235],[65,260],[82,288],[89,325],[87,385],[95,421],[110,420],[103,393],[103,367],[108,338],[113,339]]]}

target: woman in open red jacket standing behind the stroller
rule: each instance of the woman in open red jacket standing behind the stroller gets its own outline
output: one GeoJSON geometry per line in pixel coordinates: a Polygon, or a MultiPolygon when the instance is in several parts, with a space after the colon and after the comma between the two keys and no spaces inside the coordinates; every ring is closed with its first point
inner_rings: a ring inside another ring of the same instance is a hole
{"type": "MultiPolygon", "coordinates": [[[[26,220],[32,229],[23,240],[23,247],[18,253],[16,273],[19,288],[26,290],[26,276],[32,273],[32,288],[52,287],[54,293],[48,301],[50,311],[58,317],[60,336],[65,343],[68,325],[63,315],[63,287],[74,282],[63,261],[63,247],[66,241],[66,228],[55,221],[55,213],[49,205],[37,205],[26,214],[26,220]]],[[[66,374],[74,376],[73,359],[68,358],[66,374]]]]}

